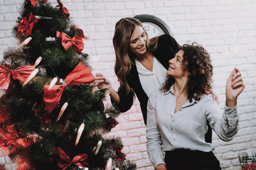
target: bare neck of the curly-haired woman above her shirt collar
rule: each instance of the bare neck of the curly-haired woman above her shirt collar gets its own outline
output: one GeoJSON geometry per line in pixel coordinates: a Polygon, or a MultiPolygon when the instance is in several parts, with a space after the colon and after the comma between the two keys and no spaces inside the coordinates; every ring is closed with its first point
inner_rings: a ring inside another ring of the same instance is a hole
{"type": "Polygon", "coordinates": [[[188,91],[188,79],[175,79],[174,82],[174,94],[176,97],[181,95],[186,95],[186,92],[188,91]]]}

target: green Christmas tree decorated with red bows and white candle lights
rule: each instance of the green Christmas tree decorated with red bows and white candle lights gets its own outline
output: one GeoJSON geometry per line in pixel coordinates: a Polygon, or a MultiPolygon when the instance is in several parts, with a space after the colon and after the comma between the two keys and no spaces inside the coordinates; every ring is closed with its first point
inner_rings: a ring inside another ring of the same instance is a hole
{"type": "Polygon", "coordinates": [[[136,169],[122,140],[106,137],[119,111],[104,105],[81,52],[87,37],[57,1],[25,0],[13,29],[20,43],[4,51],[0,149],[18,169],[136,169]]]}

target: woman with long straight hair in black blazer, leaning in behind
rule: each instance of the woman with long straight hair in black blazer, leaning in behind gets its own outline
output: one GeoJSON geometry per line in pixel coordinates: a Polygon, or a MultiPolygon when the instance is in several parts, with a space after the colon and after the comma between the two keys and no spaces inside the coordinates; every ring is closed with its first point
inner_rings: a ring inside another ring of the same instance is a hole
{"type": "Polygon", "coordinates": [[[169,34],[149,40],[139,20],[122,18],[116,23],[113,44],[116,54],[114,72],[120,83],[119,90],[114,91],[102,74],[96,74],[95,84],[110,91],[112,102],[121,112],[132,107],[136,94],[146,124],[147,100],[164,82],[168,61],[174,57],[178,43],[169,34]]]}

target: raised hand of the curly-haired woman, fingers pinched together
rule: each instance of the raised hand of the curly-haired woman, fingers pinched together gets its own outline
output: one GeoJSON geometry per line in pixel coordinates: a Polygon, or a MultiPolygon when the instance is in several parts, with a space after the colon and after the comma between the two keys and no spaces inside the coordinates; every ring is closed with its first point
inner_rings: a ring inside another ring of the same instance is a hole
{"type": "Polygon", "coordinates": [[[241,73],[238,69],[233,69],[226,84],[226,104],[228,107],[236,106],[238,96],[245,89],[245,84],[242,81],[241,73]]]}

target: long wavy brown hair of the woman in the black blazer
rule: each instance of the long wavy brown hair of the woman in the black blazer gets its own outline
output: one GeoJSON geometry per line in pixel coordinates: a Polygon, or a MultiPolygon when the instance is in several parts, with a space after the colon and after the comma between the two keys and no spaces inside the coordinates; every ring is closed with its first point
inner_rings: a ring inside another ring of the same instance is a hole
{"type": "MultiPolygon", "coordinates": [[[[142,23],[136,18],[122,18],[115,25],[113,37],[113,45],[116,55],[114,72],[117,75],[120,83],[119,89],[126,89],[127,94],[130,91],[134,93],[134,90],[127,82],[127,74],[131,70],[132,64],[134,64],[129,58],[129,42],[136,26],[141,26],[144,30],[142,23]]],[[[146,49],[149,51],[154,51],[157,46],[158,38],[153,38],[149,41],[145,30],[144,32],[146,34],[146,49]]]]}

